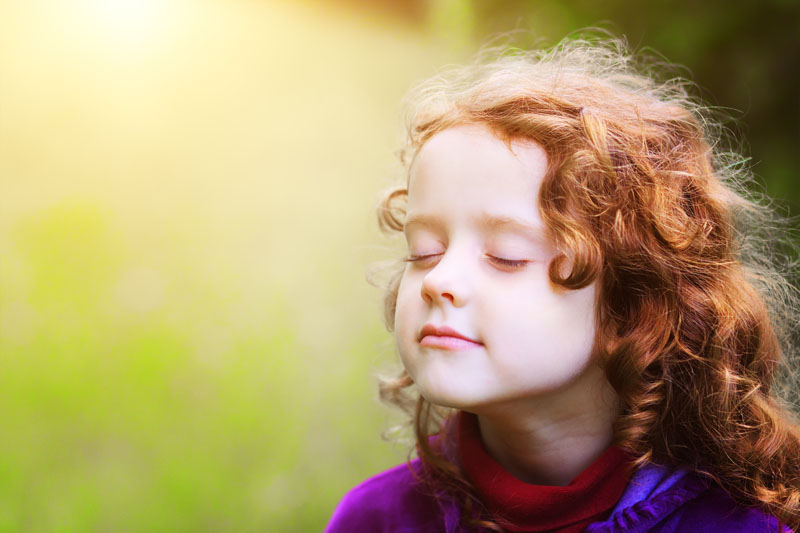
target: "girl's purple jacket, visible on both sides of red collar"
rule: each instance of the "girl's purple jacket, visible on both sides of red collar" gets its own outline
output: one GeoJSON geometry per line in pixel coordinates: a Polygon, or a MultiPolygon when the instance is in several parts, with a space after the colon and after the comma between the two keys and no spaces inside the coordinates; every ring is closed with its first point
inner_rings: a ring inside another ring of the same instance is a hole
{"type": "MultiPolygon", "coordinates": [[[[437,503],[414,478],[419,459],[372,477],[347,493],[328,533],[456,533],[460,511],[437,503]]],[[[586,528],[591,533],[778,533],[778,521],[735,503],[721,488],[686,470],[649,464],[636,471],[611,515],[586,528]]],[[[791,530],[784,526],[784,532],[791,530]]]]}

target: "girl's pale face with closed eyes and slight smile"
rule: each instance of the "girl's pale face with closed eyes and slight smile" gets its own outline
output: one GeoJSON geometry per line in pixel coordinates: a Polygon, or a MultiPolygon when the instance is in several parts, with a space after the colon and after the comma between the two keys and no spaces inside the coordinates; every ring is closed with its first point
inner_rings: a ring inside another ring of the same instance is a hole
{"type": "Polygon", "coordinates": [[[553,285],[537,209],[544,150],[484,126],[432,137],[409,176],[408,264],[395,335],[423,396],[480,407],[557,392],[587,374],[595,287],[553,285]]]}

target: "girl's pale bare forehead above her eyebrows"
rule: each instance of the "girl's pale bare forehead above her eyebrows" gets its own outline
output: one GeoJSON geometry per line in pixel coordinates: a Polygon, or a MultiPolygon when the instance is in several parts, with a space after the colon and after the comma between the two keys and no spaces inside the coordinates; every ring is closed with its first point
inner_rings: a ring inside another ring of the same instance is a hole
{"type": "Polygon", "coordinates": [[[547,156],[537,143],[507,142],[486,126],[444,130],[411,165],[409,218],[428,215],[514,218],[542,226],[537,196],[547,156]]]}

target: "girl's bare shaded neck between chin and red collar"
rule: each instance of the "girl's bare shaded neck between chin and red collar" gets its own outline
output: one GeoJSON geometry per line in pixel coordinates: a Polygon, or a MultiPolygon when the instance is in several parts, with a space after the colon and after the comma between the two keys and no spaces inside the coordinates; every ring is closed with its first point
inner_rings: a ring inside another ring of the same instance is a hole
{"type": "Polygon", "coordinates": [[[486,451],[514,477],[566,486],[611,445],[618,410],[597,367],[564,390],[475,414],[486,451]]]}

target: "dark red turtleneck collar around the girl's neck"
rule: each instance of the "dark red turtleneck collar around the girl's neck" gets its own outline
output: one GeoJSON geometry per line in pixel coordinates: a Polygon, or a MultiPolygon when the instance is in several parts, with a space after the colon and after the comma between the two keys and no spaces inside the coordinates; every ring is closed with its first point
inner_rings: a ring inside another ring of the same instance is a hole
{"type": "Polygon", "coordinates": [[[629,456],[610,446],[565,487],[525,483],[486,453],[478,418],[465,412],[458,420],[458,449],[464,471],[488,511],[515,532],[583,531],[608,515],[632,472],[629,456]]]}

